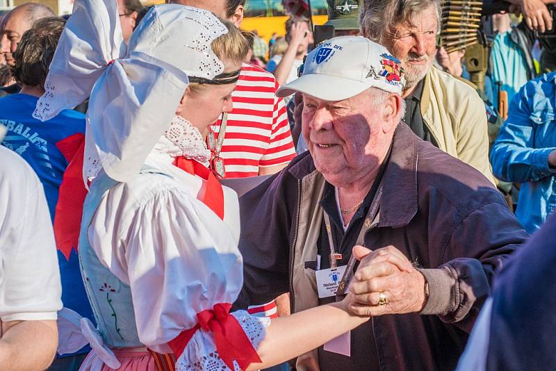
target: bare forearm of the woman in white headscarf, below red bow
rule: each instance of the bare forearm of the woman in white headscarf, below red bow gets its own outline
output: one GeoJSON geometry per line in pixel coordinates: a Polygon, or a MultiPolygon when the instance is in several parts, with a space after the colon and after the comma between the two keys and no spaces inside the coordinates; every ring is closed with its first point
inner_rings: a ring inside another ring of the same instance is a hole
{"type": "Polygon", "coordinates": [[[253,363],[247,370],[269,368],[309,352],[329,340],[367,322],[347,312],[347,295],[343,302],[333,303],[272,320],[257,353],[262,363],[253,363]]]}

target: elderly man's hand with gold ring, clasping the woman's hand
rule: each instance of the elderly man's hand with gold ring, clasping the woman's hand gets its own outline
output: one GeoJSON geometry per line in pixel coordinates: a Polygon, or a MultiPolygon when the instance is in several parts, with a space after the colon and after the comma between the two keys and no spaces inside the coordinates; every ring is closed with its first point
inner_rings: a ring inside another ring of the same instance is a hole
{"type": "Polygon", "coordinates": [[[353,254],[361,263],[350,287],[355,302],[348,308],[350,313],[375,316],[414,313],[423,309],[426,304],[425,277],[400,250],[389,246],[371,252],[356,246],[353,254]],[[384,305],[379,305],[381,293],[386,295],[384,305]]]}

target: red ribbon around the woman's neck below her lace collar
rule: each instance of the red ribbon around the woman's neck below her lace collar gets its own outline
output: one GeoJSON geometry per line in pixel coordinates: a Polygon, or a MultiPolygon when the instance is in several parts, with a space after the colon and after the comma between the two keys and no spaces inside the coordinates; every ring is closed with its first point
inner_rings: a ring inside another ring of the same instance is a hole
{"type": "Polygon", "coordinates": [[[203,186],[197,194],[197,199],[211,208],[220,219],[224,219],[224,190],[215,174],[202,163],[183,156],[174,160],[174,165],[189,174],[195,174],[203,179],[203,186]]]}

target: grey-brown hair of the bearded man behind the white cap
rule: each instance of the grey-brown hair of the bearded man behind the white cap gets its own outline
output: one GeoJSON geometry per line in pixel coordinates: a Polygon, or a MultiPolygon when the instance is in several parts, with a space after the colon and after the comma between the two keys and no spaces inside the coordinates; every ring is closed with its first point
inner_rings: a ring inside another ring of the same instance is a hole
{"type": "Polygon", "coordinates": [[[365,0],[359,12],[361,33],[370,40],[384,45],[385,32],[396,24],[413,24],[414,15],[434,5],[440,31],[442,10],[439,0],[365,0]]]}

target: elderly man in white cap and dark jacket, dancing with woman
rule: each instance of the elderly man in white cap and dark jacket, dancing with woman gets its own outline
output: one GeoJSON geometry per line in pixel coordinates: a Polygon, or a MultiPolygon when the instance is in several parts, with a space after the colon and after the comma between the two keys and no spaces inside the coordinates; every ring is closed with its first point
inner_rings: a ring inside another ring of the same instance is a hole
{"type": "Polygon", "coordinates": [[[528,237],[489,179],[400,123],[403,83],[375,42],[321,44],[278,92],[303,94],[309,151],[240,199],[236,306],[289,292],[297,312],[350,290],[373,315],[305,368],[455,368],[493,272],[528,237]]]}

